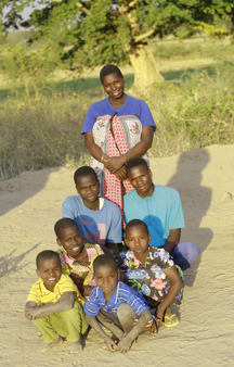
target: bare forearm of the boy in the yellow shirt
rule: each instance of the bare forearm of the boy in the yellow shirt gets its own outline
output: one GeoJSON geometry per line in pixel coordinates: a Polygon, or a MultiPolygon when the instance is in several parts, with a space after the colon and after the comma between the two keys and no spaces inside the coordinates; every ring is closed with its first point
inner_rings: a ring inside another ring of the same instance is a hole
{"type": "Polygon", "coordinates": [[[74,292],[65,292],[61,295],[60,300],[53,304],[37,305],[36,302],[27,302],[25,306],[25,316],[29,320],[49,316],[61,311],[68,311],[73,308],[75,302],[74,292]]]}

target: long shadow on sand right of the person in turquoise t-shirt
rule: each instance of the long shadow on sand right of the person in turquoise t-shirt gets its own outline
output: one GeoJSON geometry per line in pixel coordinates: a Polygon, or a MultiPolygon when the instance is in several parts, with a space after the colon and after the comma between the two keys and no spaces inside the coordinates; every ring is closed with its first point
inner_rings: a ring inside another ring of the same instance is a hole
{"type": "MultiPolygon", "coordinates": [[[[198,244],[203,252],[209,245],[213,232],[211,228],[200,227],[211,201],[211,189],[202,185],[203,169],[209,162],[206,149],[194,149],[180,155],[177,173],[167,186],[179,190],[186,228],[182,231],[182,240],[198,244]]],[[[193,286],[200,258],[185,271],[185,284],[193,286]]]]}

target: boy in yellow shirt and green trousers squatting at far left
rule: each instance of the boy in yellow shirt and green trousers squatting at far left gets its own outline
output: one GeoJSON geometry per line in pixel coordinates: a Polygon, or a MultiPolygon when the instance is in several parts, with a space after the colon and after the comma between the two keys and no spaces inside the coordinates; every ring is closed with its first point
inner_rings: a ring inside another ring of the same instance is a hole
{"type": "Polygon", "coordinates": [[[62,344],[66,339],[70,353],[82,349],[80,337],[86,333],[88,322],[83,314],[81,295],[67,276],[62,274],[60,255],[46,250],[37,255],[36,281],[28,294],[25,316],[39,328],[46,351],[62,344]]]}

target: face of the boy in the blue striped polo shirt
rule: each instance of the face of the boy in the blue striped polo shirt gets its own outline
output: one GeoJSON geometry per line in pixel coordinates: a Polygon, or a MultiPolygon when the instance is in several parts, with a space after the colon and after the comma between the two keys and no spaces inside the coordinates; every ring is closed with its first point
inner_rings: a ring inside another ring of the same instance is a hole
{"type": "Polygon", "coordinates": [[[103,291],[104,295],[110,296],[115,292],[118,274],[112,266],[99,266],[95,269],[94,279],[96,286],[103,291]]]}

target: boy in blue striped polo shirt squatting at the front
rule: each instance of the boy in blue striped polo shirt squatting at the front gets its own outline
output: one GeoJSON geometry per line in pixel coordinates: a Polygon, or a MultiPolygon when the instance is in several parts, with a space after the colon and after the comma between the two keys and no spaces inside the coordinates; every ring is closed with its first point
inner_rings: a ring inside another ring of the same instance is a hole
{"type": "Polygon", "coordinates": [[[144,327],[153,322],[152,314],[131,288],[118,281],[117,266],[112,256],[98,256],[93,271],[96,287],[83,305],[87,320],[112,352],[126,353],[144,327]],[[113,332],[112,338],[102,325],[113,332]]]}

